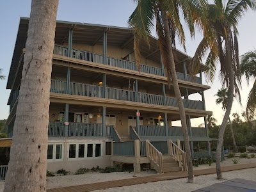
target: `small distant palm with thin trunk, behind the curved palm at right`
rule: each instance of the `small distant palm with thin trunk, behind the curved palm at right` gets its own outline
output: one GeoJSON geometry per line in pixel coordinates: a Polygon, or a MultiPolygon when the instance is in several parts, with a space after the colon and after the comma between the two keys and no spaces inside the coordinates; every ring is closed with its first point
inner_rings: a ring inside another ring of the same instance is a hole
{"type": "MultiPolygon", "coordinates": [[[[218,90],[218,92],[214,96],[218,97],[216,99],[216,104],[222,104],[221,108],[223,109],[223,111],[226,111],[227,110],[227,103],[228,103],[228,90],[227,90],[227,88],[222,88],[222,89],[218,90]]],[[[236,140],[235,140],[235,136],[234,136],[232,122],[231,122],[229,116],[228,116],[228,122],[229,122],[229,126],[230,126],[232,140],[233,140],[234,152],[237,153],[238,150],[237,150],[237,146],[236,146],[236,140]]]]}

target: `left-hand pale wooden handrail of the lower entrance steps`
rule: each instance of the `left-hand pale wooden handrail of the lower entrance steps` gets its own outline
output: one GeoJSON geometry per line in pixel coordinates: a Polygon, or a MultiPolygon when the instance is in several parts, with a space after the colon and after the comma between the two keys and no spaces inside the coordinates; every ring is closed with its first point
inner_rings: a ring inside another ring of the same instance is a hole
{"type": "Polygon", "coordinates": [[[159,150],[157,150],[156,147],[154,147],[148,140],[146,140],[146,151],[147,157],[156,164],[159,173],[163,173],[163,154],[159,152],[159,150]]]}

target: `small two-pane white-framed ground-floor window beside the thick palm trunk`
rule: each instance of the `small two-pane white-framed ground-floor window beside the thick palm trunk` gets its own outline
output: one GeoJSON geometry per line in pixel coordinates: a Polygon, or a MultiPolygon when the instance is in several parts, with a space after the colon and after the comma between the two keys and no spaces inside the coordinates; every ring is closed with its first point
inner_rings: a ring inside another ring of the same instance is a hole
{"type": "Polygon", "coordinates": [[[47,148],[47,160],[58,161],[63,159],[63,143],[50,143],[47,148]]]}

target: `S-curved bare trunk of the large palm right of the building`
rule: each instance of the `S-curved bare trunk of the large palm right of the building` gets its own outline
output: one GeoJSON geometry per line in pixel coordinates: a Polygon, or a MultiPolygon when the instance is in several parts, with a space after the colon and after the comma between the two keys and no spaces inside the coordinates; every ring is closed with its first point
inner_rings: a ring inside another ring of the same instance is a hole
{"type": "MultiPolygon", "coordinates": [[[[231,32],[230,32],[231,33],[231,32]]],[[[229,70],[229,83],[228,83],[228,102],[227,102],[227,109],[225,112],[225,115],[223,117],[222,123],[220,125],[220,131],[219,131],[219,136],[218,136],[218,142],[217,142],[217,148],[216,148],[216,173],[217,173],[217,178],[218,179],[223,179],[222,173],[221,173],[221,147],[223,143],[223,136],[225,132],[225,128],[228,122],[228,118],[230,115],[230,111],[232,108],[233,104],[233,97],[234,97],[234,69],[232,66],[232,60],[231,60],[231,43],[230,43],[230,37],[227,38],[226,41],[226,46],[227,46],[227,52],[226,52],[226,60],[225,63],[221,63],[221,65],[227,65],[228,70],[229,70]]]]}

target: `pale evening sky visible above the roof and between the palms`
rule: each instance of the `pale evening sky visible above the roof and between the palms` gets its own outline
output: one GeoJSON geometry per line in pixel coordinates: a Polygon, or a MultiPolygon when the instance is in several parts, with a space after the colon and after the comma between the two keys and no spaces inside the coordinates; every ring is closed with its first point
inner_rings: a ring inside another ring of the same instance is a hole
{"type": "MultiPolygon", "coordinates": [[[[0,81],[0,119],[7,118],[9,114],[9,106],[7,106],[10,90],[6,90],[6,82],[8,72],[10,70],[10,64],[12,61],[12,54],[17,36],[17,30],[20,17],[29,17],[30,13],[30,0],[11,0],[3,1],[0,7],[0,19],[1,19],[1,62],[0,68],[3,68],[3,75],[6,79],[0,81]]],[[[111,26],[127,27],[127,20],[133,12],[136,4],[132,0],[60,0],[57,19],[67,20],[73,22],[86,22],[93,24],[106,24],[111,26]]],[[[256,25],[252,22],[256,18],[256,13],[250,11],[247,12],[243,19],[239,22],[239,52],[240,55],[244,52],[253,50],[256,47],[256,25]]],[[[186,31],[188,29],[185,28],[186,31]]],[[[152,35],[155,35],[155,31],[152,31],[152,35]]],[[[199,33],[196,35],[195,40],[191,40],[188,33],[186,34],[186,49],[189,56],[193,56],[196,47],[200,42],[202,35],[199,33]]],[[[183,51],[179,45],[177,48],[183,51]]],[[[204,82],[204,84],[206,84],[204,82]]],[[[214,95],[221,88],[220,81],[218,80],[218,74],[214,79],[210,90],[205,92],[206,109],[212,111],[214,117],[218,120],[218,124],[221,124],[224,112],[221,106],[215,104],[216,97],[214,95]]],[[[251,83],[252,86],[252,83],[251,83]]],[[[243,108],[235,101],[232,107],[232,113],[241,113],[244,111],[246,99],[251,86],[247,86],[245,79],[243,78],[243,90],[241,90],[243,108]]],[[[192,99],[192,97],[191,97],[192,99]]],[[[191,124],[197,126],[201,124],[202,120],[193,120],[191,124]]]]}

